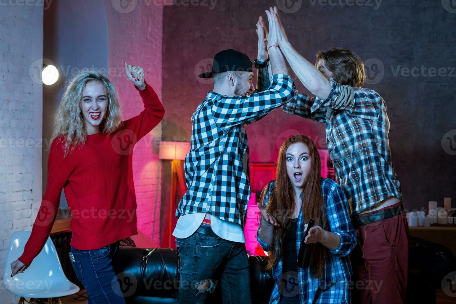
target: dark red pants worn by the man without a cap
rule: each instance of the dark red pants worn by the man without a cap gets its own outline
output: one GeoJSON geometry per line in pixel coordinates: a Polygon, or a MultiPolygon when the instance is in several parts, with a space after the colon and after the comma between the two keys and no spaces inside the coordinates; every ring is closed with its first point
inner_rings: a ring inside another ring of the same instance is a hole
{"type": "MultiPolygon", "coordinates": [[[[369,215],[399,206],[398,203],[369,215]]],[[[350,258],[353,303],[404,303],[409,258],[409,225],[403,211],[397,216],[358,227],[358,245],[350,258]]]]}

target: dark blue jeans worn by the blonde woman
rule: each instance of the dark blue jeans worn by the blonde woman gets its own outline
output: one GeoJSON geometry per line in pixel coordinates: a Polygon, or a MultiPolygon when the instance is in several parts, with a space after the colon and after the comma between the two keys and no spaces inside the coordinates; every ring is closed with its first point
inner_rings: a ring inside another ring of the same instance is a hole
{"type": "Polygon", "coordinates": [[[92,250],[71,247],[70,261],[78,280],[87,290],[88,304],[125,304],[117,281],[119,242],[92,250]]]}

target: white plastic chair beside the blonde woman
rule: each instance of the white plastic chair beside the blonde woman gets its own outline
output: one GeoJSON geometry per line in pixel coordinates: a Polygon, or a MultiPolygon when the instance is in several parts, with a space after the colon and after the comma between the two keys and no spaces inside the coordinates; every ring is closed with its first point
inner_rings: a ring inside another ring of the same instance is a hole
{"type": "Polygon", "coordinates": [[[11,278],[10,264],[17,260],[24,252],[24,246],[30,237],[31,231],[14,232],[6,257],[5,271],[3,272],[3,285],[11,294],[20,296],[19,303],[23,298],[42,299],[57,298],[79,291],[79,287],[71,283],[65,273],[57,255],[56,248],[50,237],[38,256],[33,260],[24,273],[17,273],[11,278]]]}

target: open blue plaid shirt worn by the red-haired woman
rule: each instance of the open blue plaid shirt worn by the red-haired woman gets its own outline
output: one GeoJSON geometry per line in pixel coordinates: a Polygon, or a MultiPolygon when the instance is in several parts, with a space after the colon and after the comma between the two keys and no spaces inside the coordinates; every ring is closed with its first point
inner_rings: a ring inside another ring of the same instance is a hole
{"type": "MultiPolygon", "coordinates": [[[[266,206],[269,197],[274,192],[275,180],[269,183],[267,195],[264,198],[263,206],[266,206]]],[[[336,250],[329,250],[327,255],[323,277],[316,279],[311,276],[310,267],[302,269],[298,267],[299,297],[301,303],[351,303],[351,289],[349,284],[352,279],[352,265],[348,254],[357,244],[356,233],[348,215],[347,197],[341,186],[334,180],[327,178],[321,179],[321,192],[323,201],[326,204],[326,216],[328,217],[331,232],[337,233],[341,243],[336,250]]],[[[260,221],[261,224],[261,221],[260,221]]],[[[299,252],[301,240],[304,238],[305,230],[303,209],[298,216],[296,229],[296,252],[299,252]]],[[[261,225],[258,227],[258,231],[261,225]]],[[[257,232],[257,240],[261,247],[267,252],[270,251],[270,245],[263,242],[257,232]]],[[[275,240],[277,242],[277,240],[275,240]]],[[[277,243],[276,243],[277,244],[277,243]]],[[[277,247],[276,246],[276,255],[277,247]]],[[[296,259],[298,257],[296,256],[296,259]]],[[[272,290],[269,303],[277,304],[284,290],[280,288],[282,283],[282,256],[278,257],[278,263],[272,268],[272,277],[274,278],[274,288],[272,290]]]]}

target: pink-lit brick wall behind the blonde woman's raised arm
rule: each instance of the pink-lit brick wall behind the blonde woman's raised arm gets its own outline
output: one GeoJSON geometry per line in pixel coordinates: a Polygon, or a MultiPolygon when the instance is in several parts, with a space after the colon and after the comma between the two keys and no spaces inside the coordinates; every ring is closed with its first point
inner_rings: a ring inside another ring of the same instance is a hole
{"type": "MultiPolygon", "coordinates": [[[[108,66],[122,68],[124,61],[144,68],[146,82],[161,98],[161,41],[163,7],[156,1],[131,1],[127,7],[104,0],[108,21],[108,66]]],[[[123,119],[138,115],[143,103],[126,77],[114,78],[123,108],[123,119]]],[[[166,108],[166,105],[165,105],[166,108]]],[[[136,144],[133,177],[137,201],[138,230],[156,243],[160,238],[160,161],[158,144],[161,124],[136,144]]]]}

